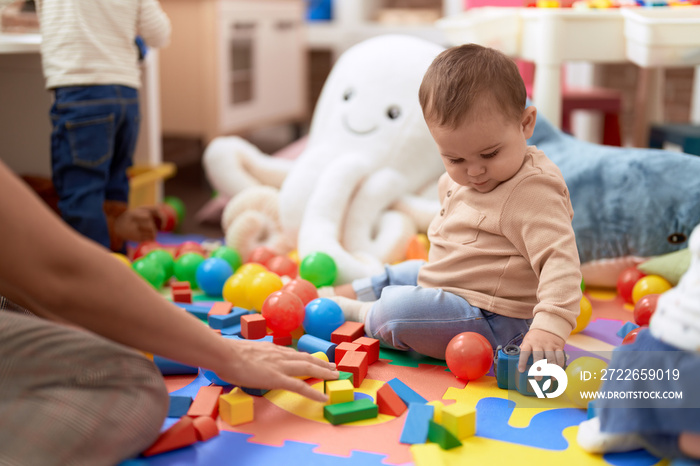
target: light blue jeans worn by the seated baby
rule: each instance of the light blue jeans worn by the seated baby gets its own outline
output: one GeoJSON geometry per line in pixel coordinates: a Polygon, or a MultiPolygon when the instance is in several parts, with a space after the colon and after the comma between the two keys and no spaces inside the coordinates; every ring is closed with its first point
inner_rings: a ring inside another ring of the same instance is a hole
{"type": "Polygon", "coordinates": [[[519,345],[532,319],[506,317],[474,307],[466,299],[439,288],[417,286],[423,261],[385,267],[382,274],[353,282],[358,299],[374,301],[367,313],[367,333],[393,348],[413,349],[445,359],[450,340],[462,332],[486,337],[495,349],[519,345]]]}

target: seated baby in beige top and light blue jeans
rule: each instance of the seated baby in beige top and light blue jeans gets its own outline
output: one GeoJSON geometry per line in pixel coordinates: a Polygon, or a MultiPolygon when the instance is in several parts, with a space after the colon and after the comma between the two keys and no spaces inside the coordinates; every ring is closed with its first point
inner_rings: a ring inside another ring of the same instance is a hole
{"type": "Polygon", "coordinates": [[[559,169],[527,145],[537,111],[517,66],[493,49],[453,47],[419,98],[447,170],[429,262],[389,266],[334,299],[398,349],[444,359],[455,335],[477,332],[494,348],[522,342],[521,371],[530,354],[563,364],[581,299],[573,209],[559,169]]]}

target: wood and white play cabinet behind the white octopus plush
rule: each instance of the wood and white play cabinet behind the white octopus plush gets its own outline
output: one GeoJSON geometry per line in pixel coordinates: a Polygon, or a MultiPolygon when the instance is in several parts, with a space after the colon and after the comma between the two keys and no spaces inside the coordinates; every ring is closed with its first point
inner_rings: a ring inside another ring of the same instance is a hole
{"type": "Polygon", "coordinates": [[[305,3],[162,0],[163,133],[202,138],[307,118],[305,3]]]}

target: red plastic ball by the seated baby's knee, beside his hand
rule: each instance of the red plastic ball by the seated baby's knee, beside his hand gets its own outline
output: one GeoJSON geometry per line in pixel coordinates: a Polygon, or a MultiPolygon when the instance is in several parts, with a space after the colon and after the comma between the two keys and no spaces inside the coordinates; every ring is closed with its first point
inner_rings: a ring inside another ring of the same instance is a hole
{"type": "Polygon", "coordinates": [[[460,333],[447,344],[445,362],[456,377],[476,380],[491,369],[493,348],[483,335],[460,333]]]}

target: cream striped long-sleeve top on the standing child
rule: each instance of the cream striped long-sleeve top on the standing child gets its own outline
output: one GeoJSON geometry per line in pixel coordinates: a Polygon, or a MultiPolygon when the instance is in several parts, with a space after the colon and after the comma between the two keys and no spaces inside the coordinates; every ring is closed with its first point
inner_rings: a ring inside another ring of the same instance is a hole
{"type": "Polygon", "coordinates": [[[46,88],[141,85],[139,35],[150,47],[170,40],[158,0],[37,0],[46,88]]]}

